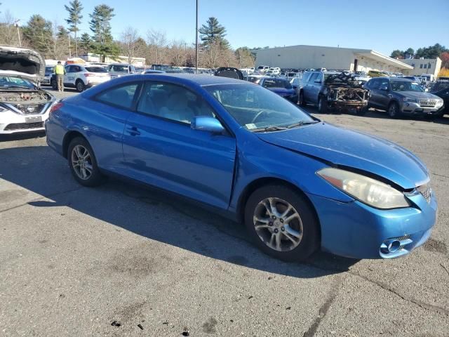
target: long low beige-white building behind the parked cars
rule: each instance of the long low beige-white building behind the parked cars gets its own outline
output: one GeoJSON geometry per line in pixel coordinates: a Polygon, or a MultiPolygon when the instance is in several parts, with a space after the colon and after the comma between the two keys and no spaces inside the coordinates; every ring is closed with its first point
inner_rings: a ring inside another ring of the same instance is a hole
{"type": "Polygon", "coordinates": [[[337,48],[323,46],[287,46],[254,50],[256,66],[268,65],[291,69],[351,70],[369,72],[405,72],[411,65],[382,55],[371,49],[337,48]]]}

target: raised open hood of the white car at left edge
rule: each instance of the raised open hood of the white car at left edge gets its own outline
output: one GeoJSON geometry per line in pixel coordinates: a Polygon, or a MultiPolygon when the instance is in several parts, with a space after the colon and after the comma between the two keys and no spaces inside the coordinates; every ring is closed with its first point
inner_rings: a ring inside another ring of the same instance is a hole
{"type": "Polygon", "coordinates": [[[45,75],[45,60],[32,49],[0,46],[0,72],[37,83],[45,75]]]}

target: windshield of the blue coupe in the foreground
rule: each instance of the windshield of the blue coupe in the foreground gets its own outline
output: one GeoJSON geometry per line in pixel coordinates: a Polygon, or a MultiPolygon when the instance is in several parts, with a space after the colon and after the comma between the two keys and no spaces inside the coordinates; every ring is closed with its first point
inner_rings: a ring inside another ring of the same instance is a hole
{"type": "Polygon", "coordinates": [[[206,86],[205,89],[225,107],[237,123],[250,131],[315,122],[299,107],[261,86],[222,84],[206,86]]]}

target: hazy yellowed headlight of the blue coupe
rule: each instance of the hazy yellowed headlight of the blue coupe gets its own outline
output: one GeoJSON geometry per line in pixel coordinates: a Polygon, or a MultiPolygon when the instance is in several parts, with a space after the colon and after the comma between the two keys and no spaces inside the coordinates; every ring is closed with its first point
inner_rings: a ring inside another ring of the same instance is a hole
{"type": "Polygon", "coordinates": [[[333,168],[322,169],[317,173],[331,185],[377,209],[410,206],[402,192],[373,178],[333,168]]]}

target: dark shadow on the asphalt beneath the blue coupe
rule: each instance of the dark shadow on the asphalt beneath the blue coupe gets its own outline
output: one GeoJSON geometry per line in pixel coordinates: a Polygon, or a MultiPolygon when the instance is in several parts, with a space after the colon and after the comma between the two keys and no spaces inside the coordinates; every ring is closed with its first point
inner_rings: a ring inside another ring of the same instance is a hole
{"type": "MultiPolygon", "coordinates": [[[[159,190],[110,178],[105,185],[81,187],[67,161],[46,146],[0,150],[0,177],[44,198],[27,204],[68,206],[148,239],[202,256],[291,277],[313,278],[345,272],[358,260],[317,252],[304,263],[285,263],[264,255],[249,242],[243,225],[159,190]],[[39,179],[29,172],[39,168],[39,179]]],[[[0,203],[1,206],[1,203],[0,203]]],[[[13,206],[14,207],[14,206],[13,206]]]]}

